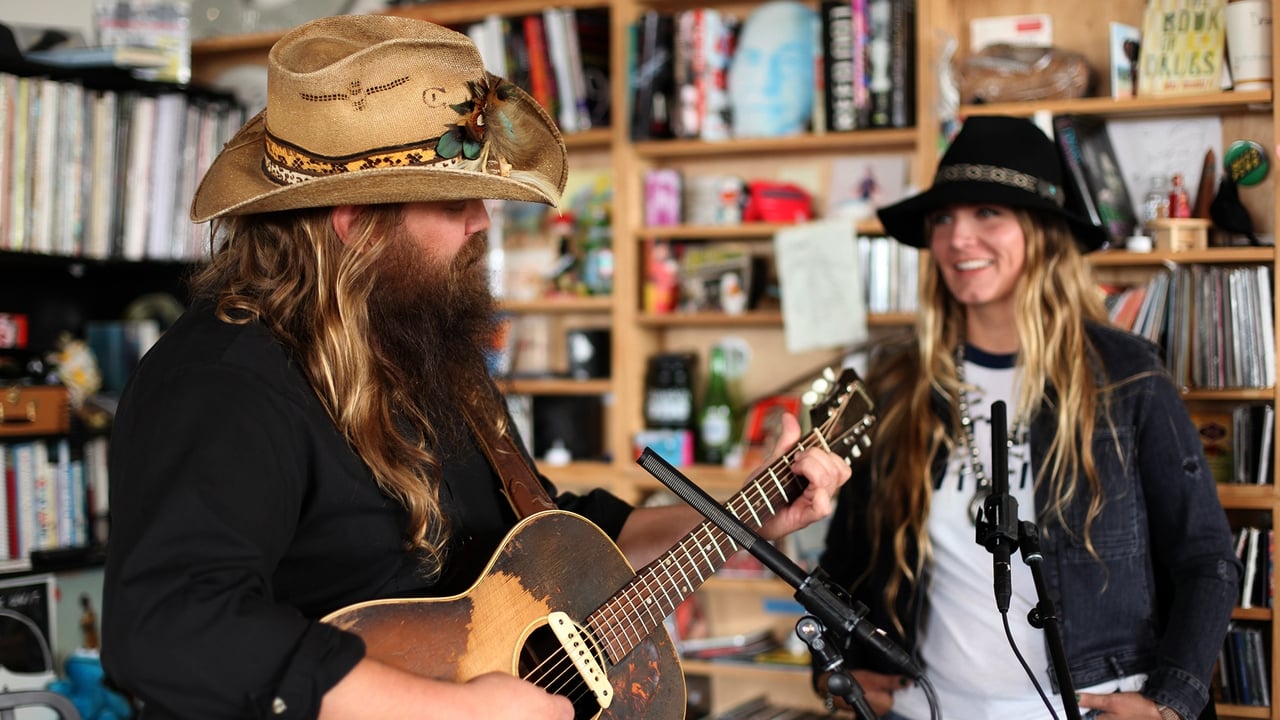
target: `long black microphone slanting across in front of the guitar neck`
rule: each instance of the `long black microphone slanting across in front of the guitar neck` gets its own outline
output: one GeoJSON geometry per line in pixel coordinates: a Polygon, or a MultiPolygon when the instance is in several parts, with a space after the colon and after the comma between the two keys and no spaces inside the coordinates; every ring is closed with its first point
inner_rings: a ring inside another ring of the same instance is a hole
{"type": "Polygon", "coordinates": [[[681,500],[694,506],[712,524],[724,530],[739,547],[754,555],[765,568],[796,588],[795,598],[827,628],[844,630],[846,638],[856,637],[911,678],[920,679],[924,675],[911,656],[890,639],[883,629],[864,619],[869,612],[868,607],[860,602],[850,605],[851,598],[829,582],[822,569],[805,575],[786,553],[739,520],[652,448],[645,447],[636,462],[681,500]]]}

